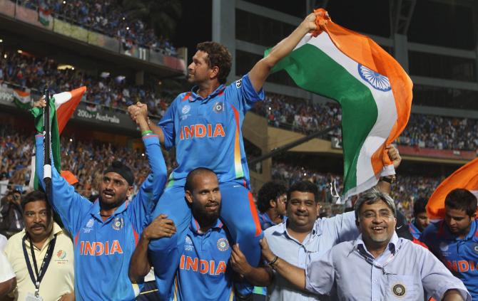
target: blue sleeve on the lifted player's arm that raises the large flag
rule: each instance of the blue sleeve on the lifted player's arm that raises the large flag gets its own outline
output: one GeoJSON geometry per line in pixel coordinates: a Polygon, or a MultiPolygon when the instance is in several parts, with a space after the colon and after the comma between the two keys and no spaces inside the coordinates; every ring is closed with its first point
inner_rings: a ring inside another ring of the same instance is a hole
{"type": "Polygon", "coordinates": [[[231,83],[226,88],[226,93],[230,93],[230,95],[226,95],[230,104],[243,114],[250,110],[255,102],[264,100],[265,97],[263,88],[260,88],[259,92],[255,91],[253,84],[250,83],[249,74],[231,83]]]}

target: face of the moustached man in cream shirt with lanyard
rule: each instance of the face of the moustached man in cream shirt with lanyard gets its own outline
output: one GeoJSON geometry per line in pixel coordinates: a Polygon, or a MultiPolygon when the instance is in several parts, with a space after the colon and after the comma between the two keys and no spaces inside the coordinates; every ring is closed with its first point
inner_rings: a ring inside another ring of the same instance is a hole
{"type": "Polygon", "coordinates": [[[40,241],[50,235],[53,229],[51,208],[46,201],[30,201],[25,204],[24,223],[25,230],[34,241],[40,241]]]}

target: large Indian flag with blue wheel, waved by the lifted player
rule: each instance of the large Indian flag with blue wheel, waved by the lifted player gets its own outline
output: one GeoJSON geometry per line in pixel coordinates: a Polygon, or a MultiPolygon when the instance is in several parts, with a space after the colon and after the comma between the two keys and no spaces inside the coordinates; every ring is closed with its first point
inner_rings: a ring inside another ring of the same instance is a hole
{"type": "Polygon", "coordinates": [[[317,31],[273,72],[286,70],[300,88],[340,103],[346,199],[395,174],[385,146],[407,125],[412,80],[370,38],[333,23],[324,9],[315,14],[317,31]]]}

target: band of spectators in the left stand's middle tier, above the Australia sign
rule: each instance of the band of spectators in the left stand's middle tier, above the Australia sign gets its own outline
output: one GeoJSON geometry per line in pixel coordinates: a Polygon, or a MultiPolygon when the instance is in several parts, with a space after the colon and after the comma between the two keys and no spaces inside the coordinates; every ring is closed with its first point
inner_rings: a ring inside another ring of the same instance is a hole
{"type": "Polygon", "coordinates": [[[60,70],[50,58],[37,58],[26,53],[1,53],[0,83],[26,90],[42,90],[45,85],[53,93],[61,93],[86,85],[86,101],[95,105],[125,110],[138,101],[146,102],[150,114],[164,115],[168,108],[165,93],[147,85],[133,85],[128,79],[113,78],[108,73],[93,76],[83,70],[60,70]]]}

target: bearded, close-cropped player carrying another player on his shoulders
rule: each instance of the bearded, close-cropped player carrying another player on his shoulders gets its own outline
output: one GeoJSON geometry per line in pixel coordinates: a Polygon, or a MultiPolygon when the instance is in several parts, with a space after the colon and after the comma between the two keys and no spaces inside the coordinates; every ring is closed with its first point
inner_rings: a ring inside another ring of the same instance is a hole
{"type": "MultiPolygon", "coordinates": [[[[230,238],[219,220],[221,194],[218,177],[207,168],[193,169],[186,177],[184,190],[192,217],[181,248],[170,300],[234,300],[233,270],[228,264],[230,238]]],[[[155,218],[143,231],[131,258],[131,281],[142,282],[151,268],[148,258],[158,256],[151,250],[148,254],[148,243],[175,233],[176,226],[165,214],[155,218]]],[[[235,251],[238,252],[238,246],[235,246],[235,251]]],[[[262,281],[269,277],[268,272],[261,268],[252,268],[251,273],[245,275],[247,280],[258,285],[263,285],[262,281]]]]}

